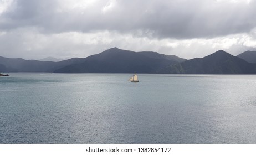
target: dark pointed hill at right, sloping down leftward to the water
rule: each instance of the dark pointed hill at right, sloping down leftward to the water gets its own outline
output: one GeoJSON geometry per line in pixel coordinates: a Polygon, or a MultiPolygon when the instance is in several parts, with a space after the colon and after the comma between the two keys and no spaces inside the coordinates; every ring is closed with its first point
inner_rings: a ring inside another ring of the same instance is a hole
{"type": "Polygon", "coordinates": [[[194,58],[163,68],[166,74],[256,74],[256,65],[223,50],[204,58],[194,58]]]}

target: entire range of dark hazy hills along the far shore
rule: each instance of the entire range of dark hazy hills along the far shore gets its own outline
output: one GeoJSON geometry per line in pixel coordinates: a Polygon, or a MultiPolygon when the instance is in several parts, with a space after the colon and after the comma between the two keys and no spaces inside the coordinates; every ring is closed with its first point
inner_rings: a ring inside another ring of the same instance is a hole
{"type": "Polygon", "coordinates": [[[256,64],[247,62],[256,62],[256,56],[253,57],[252,53],[255,52],[246,51],[233,56],[219,50],[204,58],[186,60],[151,51],[134,52],[111,48],[87,58],[71,58],[59,62],[0,56],[0,72],[256,74],[256,64]]]}

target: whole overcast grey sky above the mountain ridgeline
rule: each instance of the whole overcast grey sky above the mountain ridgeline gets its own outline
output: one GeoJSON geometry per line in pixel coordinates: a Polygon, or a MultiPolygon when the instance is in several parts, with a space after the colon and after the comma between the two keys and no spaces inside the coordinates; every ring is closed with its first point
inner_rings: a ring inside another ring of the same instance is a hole
{"type": "Polygon", "coordinates": [[[0,0],[0,56],[85,58],[117,47],[202,58],[256,50],[256,0],[0,0]]]}

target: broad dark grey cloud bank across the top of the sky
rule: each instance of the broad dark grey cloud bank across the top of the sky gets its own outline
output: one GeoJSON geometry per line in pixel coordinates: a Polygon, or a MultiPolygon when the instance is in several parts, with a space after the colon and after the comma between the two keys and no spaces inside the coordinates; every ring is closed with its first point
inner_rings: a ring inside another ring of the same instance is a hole
{"type": "Polygon", "coordinates": [[[244,33],[256,25],[255,1],[97,1],[73,8],[62,3],[14,1],[0,27],[38,27],[51,33],[116,30],[182,39],[244,33]]]}

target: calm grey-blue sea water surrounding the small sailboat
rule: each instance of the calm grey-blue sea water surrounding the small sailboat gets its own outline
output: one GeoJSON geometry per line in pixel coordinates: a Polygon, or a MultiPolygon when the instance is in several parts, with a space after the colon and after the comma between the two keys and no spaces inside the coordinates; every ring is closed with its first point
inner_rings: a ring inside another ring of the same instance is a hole
{"type": "Polygon", "coordinates": [[[256,143],[256,75],[8,74],[1,144],[256,143]]]}

